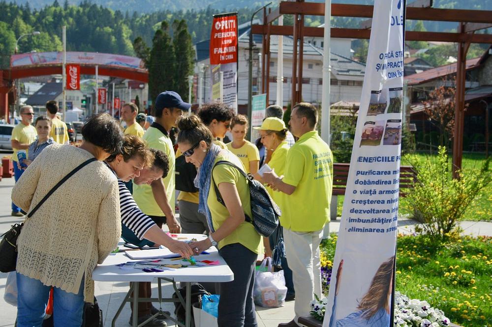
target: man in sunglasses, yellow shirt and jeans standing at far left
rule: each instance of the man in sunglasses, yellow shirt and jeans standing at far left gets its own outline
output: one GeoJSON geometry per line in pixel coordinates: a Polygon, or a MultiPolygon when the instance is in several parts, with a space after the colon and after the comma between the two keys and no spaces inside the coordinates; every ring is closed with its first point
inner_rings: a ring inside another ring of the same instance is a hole
{"type": "MultiPolygon", "coordinates": [[[[36,128],[32,126],[32,119],[34,118],[34,110],[31,106],[23,106],[19,110],[21,114],[21,122],[17,124],[12,130],[12,137],[10,138],[10,143],[12,144],[12,150],[14,153],[12,154],[12,160],[14,161],[14,178],[15,181],[21,178],[24,169],[19,168],[17,163],[19,159],[17,159],[17,151],[18,150],[26,150],[26,153],[29,149],[29,146],[32,142],[36,140],[37,132],[36,128]]],[[[21,212],[21,208],[16,206],[12,202],[12,216],[14,217],[22,217],[24,216],[21,212]]]]}

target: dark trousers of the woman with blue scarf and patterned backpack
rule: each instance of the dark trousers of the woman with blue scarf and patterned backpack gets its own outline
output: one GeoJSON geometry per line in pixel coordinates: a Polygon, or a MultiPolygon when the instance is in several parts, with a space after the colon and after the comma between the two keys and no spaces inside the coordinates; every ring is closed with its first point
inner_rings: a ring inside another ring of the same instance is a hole
{"type": "Polygon", "coordinates": [[[233,281],[219,286],[218,327],[257,327],[253,286],[258,255],[239,243],[225,245],[218,252],[234,273],[233,281]]]}

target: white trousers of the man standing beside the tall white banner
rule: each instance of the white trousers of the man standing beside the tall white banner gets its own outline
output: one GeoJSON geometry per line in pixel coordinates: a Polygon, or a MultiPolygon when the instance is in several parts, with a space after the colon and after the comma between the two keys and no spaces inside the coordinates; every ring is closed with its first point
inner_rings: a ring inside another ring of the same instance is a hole
{"type": "Polygon", "coordinates": [[[321,263],[319,261],[319,244],[323,237],[323,229],[315,232],[294,232],[283,229],[283,240],[287,262],[292,270],[296,301],[294,304],[295,318],[309,317],[309,302],[314,300],[314,293],[321,294],[321,263]]]}

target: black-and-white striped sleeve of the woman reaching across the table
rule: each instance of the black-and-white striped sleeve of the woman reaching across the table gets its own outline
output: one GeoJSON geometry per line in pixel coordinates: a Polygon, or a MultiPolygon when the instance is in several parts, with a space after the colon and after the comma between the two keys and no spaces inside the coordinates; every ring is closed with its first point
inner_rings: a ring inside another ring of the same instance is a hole
{"type": "MultiPolygon", "coordinates": [[[[104,164],[116,175],[116,172],[109,164],[106,162],[104,164]]],[[[155,225],[155,222],[140,210],[121,179],[118,179],[118,189],[120,190],[122,223],[135,233],[140,240],[143,240],[145,233],[155,225]]]]}

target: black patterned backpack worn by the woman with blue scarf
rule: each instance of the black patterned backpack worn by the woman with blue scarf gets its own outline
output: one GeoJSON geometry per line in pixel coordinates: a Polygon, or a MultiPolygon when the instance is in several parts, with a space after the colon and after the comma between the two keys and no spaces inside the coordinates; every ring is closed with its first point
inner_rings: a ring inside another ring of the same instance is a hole
{"type": "MultiPolygon", "coordinates": [[[[249,196],[251,199],[251,215],[253,216],[251,219],[245,213],[246,221],[251,222],[256,232],[258,232],[261,236],[269,237],[272,235],[278,226],[278,217],[281,216],[282,212],[277,206],[277,203],[275,203],[270,194],[268,194],[268,191],[265,189],[263,184],[255,180],[251,174],[246,175],[243,169],[231,162],[225,160],[218,161],[214,165],[214,168],[217,164],[228,164],[233,166],[241,174],[243,174],[244,177],[246,177],[246,181],[249,184],[249,196]]],[[[212,168],[212,171],[213,170],[214,169],[212,168]]],[[[214,175],[212,175],[212,180],[213,179],[214,175]]],[[[217,201],[225,206],[224,200],[220,195],[220,191],[218,190],[215,181],[214,189],[215,194],[217,195],[217,201]]]]}

